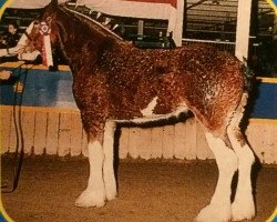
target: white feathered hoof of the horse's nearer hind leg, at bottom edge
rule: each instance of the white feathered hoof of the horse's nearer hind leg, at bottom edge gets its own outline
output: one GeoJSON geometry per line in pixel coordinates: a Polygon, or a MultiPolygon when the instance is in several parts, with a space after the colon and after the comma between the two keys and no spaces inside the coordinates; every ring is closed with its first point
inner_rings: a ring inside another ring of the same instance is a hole
{"type": "Polygon", "coordinates": [[[226,206],[209,204],[202,209],[195,219],[196,222],[228,222],[229,220],[230,204],[226,206]]]}

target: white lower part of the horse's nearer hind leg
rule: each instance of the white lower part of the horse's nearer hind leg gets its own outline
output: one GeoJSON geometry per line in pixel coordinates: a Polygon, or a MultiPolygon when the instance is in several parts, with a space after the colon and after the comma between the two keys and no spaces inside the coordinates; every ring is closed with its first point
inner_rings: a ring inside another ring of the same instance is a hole
{"type": "Polygon", "coordinates": [[[196,218],[198,222],[227,222],[232,218],[230,184],[237,170],[237,157],[224,140],[211,132],[205,133],[218,167],[218,181],[211,203],[196,218]]]}

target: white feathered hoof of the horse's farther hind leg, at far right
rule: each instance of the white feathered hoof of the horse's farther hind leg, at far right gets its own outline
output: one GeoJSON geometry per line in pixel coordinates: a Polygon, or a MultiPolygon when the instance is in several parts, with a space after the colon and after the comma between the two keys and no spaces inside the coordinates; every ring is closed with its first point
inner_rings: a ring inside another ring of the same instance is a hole
{"type": "Polygon", "coordinates": [[[232,221],[252,220],[255,216],[255,205],[253,201],[234,201],[232,204],[232,221]]]}

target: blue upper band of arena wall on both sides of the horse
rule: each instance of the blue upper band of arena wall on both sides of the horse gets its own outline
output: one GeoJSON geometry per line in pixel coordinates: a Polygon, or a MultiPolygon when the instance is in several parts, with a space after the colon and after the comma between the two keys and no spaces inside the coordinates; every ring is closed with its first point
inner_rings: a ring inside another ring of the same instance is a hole
{"type": "MultiPolygon", "coordinates": [[[[14,68],[7,68],[14,69],[14,68]]],[[[0,87],[0,103],[12,105],[14,101],[13,84],[17,78],[20,82],[25,79],[25,89],[22,105],[25,107],[54,107],[76,109],[72,94],[72,74],[70,71],[50,72],[41,69],[16,70],[9,81],[2,81],[0,87]],[[20,74],[21,73],[21,74],[20,74]]],[[[250,117],[259,119],[277,119],[277,81],[258,81],[256,99],[250,117]]],[[[22,93],[17,93],[17,103],[22,93]]]]}

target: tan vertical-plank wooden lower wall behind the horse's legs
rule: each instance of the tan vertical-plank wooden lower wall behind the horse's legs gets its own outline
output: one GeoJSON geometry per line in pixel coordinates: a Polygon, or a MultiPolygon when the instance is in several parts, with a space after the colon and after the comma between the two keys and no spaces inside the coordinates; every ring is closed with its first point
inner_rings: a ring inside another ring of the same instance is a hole
{"type": "MultiPolygon", "coordinates": [[[[12,107],[1,105],[0,110],[1,153],[14,152],[17,140],[12,107]]],[[[78,111],[22,107],[21,122],[25,153],[88,157],[86,135],[78,111]]],[[[277,163],[276,120],[250,119],[246,135],[263,163],[277,163]]],[[[201,125],[194,119],[166,127],[122,128],[119,143],[121,159],[127,155],[145,160],[214,158],[201,125]]]]}

